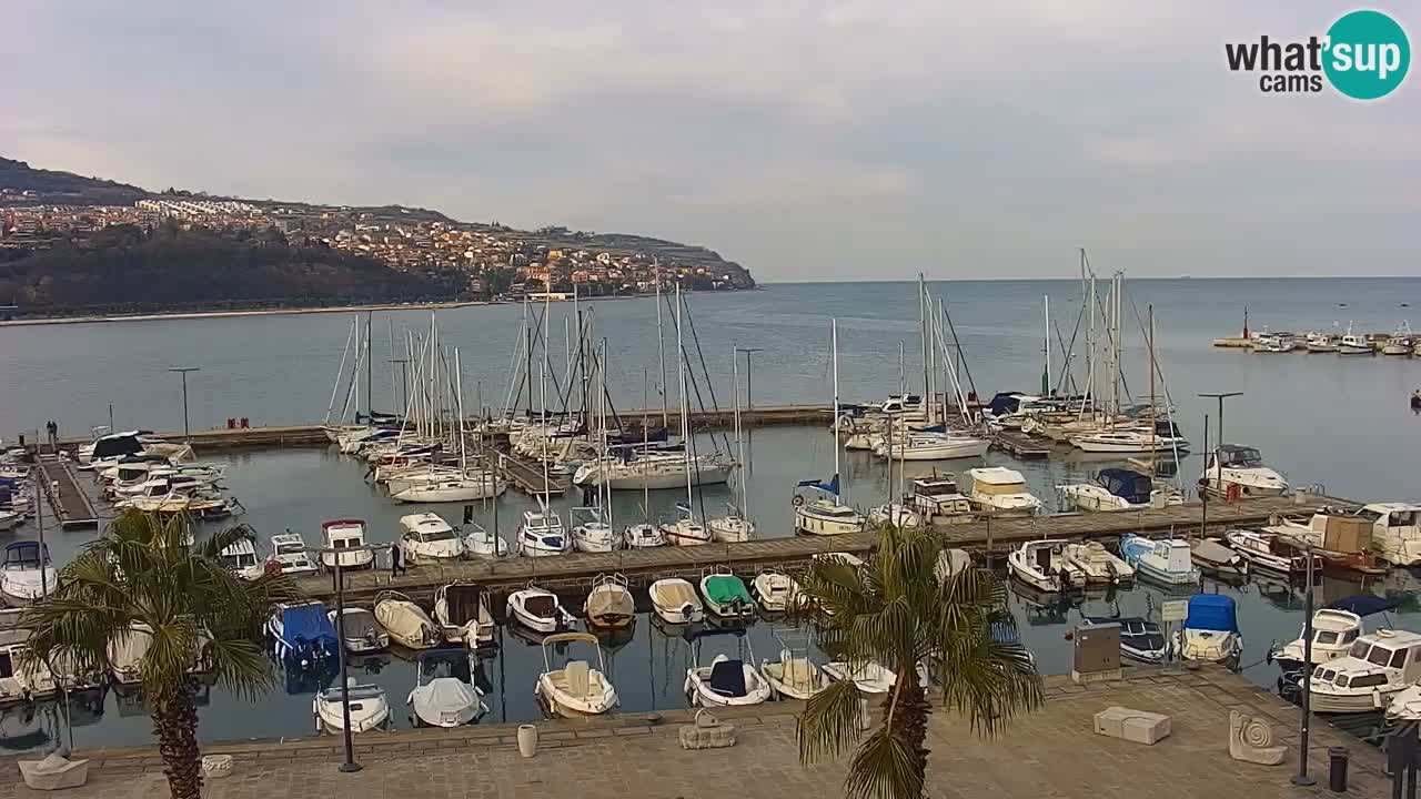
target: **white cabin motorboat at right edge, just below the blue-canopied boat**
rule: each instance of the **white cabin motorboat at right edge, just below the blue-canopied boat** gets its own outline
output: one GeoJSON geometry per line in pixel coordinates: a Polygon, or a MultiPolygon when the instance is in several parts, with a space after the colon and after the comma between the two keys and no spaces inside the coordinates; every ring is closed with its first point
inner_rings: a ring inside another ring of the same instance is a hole
{"type": "Polygon", "coordinates": [[[1346,655],[1313,670],[1309,702],[1320,714],[1385,709],[1393,697],[1417,680],[1421,680],[1421,636],[1377,630],[1357,637],[1346,655]]]}

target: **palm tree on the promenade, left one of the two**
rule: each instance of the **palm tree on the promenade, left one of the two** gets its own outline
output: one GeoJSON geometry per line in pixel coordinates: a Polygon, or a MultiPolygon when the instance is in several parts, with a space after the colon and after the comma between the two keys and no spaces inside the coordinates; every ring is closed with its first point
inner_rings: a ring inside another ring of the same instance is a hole
{"type": "Polygon", "coordinates": [[[31,657],[77,674],[108,674],[109,643],[146,627],[139,672],[173,799],[202,792],[193,672],[244,697],[274,681],[257,643],[261,621],[294,589],[281,576],[243,581],[217,559],[252,535],[237,526],[189,546],[186,519],[129,510],[64,567],[58,590],[24,614],[31,657]]]}

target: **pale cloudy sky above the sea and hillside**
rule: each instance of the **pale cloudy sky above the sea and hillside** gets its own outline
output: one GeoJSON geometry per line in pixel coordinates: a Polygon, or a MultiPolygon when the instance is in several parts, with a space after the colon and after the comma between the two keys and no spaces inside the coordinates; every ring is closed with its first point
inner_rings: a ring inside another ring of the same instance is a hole
{"type": "MultiPolygon", "coordinates": [[[[1421,74],[1270,95],[1316,0],[0,7],[0,155],[654,235],[762,281],[1421,274],[1421,74]]],[[[1421,37],[1421,7],[1376,6],[1421,37]]],[[[1412,70],[1421,73],[1421,67],[1412,70]]]]}

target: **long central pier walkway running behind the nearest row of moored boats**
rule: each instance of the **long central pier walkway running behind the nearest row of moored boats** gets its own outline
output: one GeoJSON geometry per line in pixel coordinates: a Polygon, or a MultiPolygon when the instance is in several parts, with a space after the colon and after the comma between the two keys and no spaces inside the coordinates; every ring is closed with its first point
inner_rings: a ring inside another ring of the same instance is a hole
{"type": "MultiPolygon", "coordinates": [[[[1231,526],[1263,525],[1276,513],[1312,513],[1322,505],[1353,505],[1344,499],[1300,495],[1296,498],[1259,498],[1236,503],[1211,502],[1208,525],[1212,532],[1231,526]]],[[[1111,539],[1123,533],[1198,535],[1199,503],[1120,513],[1059,513],[1030,519],[995,519],[965,525],[944,525],[949,546],[975,552],[1003,553],[1023,540],[1059,537],[1071,540],[1111,539]]],[[[509,557],[503,560],[462,560],[448,564],[411,566],[409,573],[391,579],[389,572],[355,572],[345,576],[348,601],[369,601],[382,590],[398,590],[418,601],[432,601],[439,586],[469,580],[495,594],[520,589],[529,581],[550,590],[578,593],[590,587],[597,574],[615,572],[632,586],[648,586],[664,577],[698,580],[706,570],[726,567],[752,576],[762,569],[799,572],[816,554],[847,552],[864,554],[874,547],[875,533],[844,536],[790,536],[745,543],[703,546],[664,546],[607,553],[573,552],[556,557],[509,557]]],[[[512,543],[512,542],[510,542],[512,543]]],[[[331,576],[303,577],[298,586],[307,594],[334,599],[331,576]]],[[[502,606],[500,606],[502,607],[502,606]]]]}

